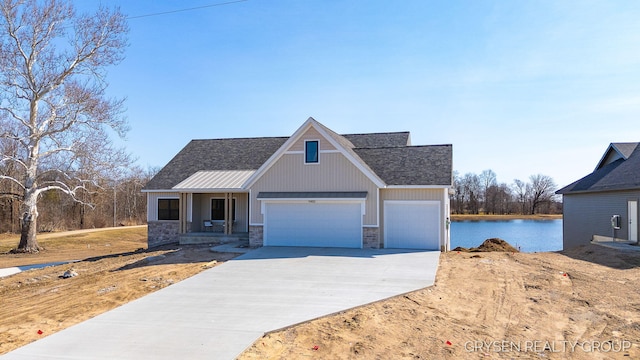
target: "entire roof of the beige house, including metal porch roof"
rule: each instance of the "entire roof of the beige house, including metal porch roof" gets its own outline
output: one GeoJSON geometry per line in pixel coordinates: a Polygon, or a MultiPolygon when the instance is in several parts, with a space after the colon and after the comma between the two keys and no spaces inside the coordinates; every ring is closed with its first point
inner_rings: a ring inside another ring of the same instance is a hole
{"type": "MultiPolygon", "coordinates": [[[[452,146],[409,146],[410,133],[340,135],[309,118],[291,137],[192,140],[144,187],[176,191],[224,185],[249,187],[310,126],[324,134],[380,187],[386,185],[451,186],[452,146]]],[[[229,188],[231,188],[229,187],[229,188]]]]}

